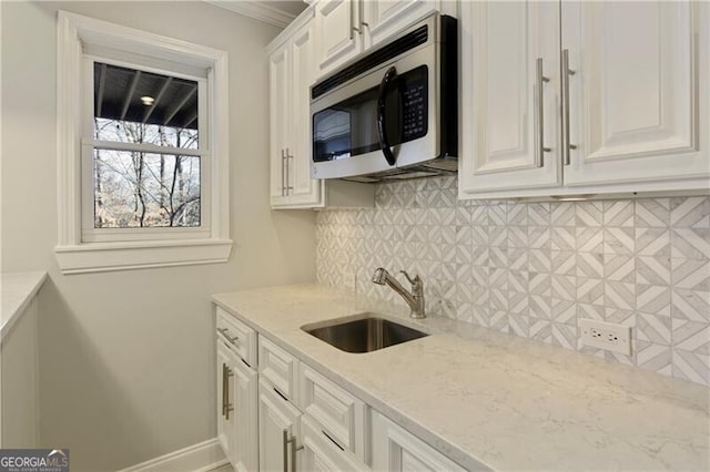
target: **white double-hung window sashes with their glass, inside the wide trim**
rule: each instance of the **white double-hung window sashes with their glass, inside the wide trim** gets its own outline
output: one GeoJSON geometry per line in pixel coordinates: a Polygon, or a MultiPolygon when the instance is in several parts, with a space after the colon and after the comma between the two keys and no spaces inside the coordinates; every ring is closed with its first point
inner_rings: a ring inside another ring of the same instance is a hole
{"type": "Polygon", "coordinates": [[[205,80],[92,55],[84,71],[82,239],[206,236],[205,80]]]}

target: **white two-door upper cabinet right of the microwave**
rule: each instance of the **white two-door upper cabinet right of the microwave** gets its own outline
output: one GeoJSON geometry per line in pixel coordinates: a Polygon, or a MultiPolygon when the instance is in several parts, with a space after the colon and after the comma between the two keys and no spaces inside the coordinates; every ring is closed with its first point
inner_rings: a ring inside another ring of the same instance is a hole
{"type": "Polygon", "coordinates": [[[463,2],[459,20],[462,198],[710,187],[708,4],[463,2]]]}

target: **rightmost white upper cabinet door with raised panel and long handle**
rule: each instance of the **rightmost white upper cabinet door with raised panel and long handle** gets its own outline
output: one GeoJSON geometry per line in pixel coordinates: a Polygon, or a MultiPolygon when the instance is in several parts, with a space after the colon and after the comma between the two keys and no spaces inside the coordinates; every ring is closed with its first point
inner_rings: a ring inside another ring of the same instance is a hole
{"type": "Polygon", "coordinates": [[[686,1],[561,3],[562,50],[574,71],[567,185],[710,174],[701,9],[686,1]]]}

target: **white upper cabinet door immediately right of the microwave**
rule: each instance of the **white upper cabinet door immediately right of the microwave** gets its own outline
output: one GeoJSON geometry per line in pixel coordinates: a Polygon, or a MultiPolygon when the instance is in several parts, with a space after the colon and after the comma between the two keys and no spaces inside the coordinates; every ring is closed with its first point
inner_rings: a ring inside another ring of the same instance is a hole
{"type": "Polygon", "coordinates": [[[559,10],[462,2],[462,197],[561,183],[559,10]]]}

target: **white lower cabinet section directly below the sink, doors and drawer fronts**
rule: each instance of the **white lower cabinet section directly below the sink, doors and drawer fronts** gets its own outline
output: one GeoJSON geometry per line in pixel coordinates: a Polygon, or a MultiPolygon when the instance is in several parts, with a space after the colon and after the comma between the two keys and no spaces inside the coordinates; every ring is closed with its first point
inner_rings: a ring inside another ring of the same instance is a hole
{"type": "Polygon", "coordinates": [[[368,470],[365,404],[263,337],[258,357],[261,470],[368,470]]]}

